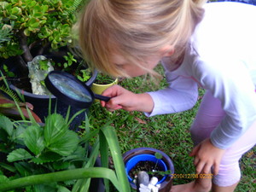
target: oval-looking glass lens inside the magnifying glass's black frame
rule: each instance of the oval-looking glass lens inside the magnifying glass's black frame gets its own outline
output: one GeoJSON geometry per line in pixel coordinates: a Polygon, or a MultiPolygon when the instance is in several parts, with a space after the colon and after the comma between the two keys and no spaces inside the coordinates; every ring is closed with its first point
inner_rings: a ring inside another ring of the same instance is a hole
{"type": "Polygon", "coordinates": [[[61,74],[52,73],[49,76],[49,81],[64,95],[80,102],[92,102],[90,92],[73,79],[67,79],[61,74]]]}

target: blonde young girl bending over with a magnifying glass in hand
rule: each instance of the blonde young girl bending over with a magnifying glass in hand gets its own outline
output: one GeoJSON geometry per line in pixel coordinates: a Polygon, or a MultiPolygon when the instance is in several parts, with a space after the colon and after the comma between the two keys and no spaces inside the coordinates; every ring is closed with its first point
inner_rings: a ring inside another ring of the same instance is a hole
{"type": "Polygon", "coordinates": [[[161,61],[169,86],[134,94],[114,85],[102,106],[148,116],[193,108],[191,126],[198,174],[214,177],[172,191],[234,191],[241,155],[256,143],[256,7],[205,0],[91,0],[79,21],[84,58],[102,72],[136,77],[161,61]],[[254,124],[255,123],[255,124],[254,124]]]}

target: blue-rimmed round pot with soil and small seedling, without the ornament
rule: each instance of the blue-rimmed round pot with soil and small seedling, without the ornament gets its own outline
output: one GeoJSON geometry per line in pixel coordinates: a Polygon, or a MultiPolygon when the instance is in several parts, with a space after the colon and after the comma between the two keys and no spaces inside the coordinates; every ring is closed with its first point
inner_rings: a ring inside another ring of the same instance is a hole
{"type": "Polygon", "coordinates": [[[164,152],[155,148],[134,148],[123,154],[123,160],[132,189],[138,189],[136,177],[139,172],[147,172],[150,178],[157,177],[160,192],[169,192],[172,188],[174,166],[164,152]]]}

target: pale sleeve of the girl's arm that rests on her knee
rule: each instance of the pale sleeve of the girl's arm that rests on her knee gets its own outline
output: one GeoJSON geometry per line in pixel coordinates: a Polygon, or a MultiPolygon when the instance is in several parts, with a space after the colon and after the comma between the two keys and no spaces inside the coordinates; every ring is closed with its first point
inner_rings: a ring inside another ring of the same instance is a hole
{"type": "Polygon", "coordinates": [[[255,86],[249,70],[241,61],[217,59],[208,64],[198,61],[194,75],[221,101],[226,113],[212,131],[212,144],[229,148],[256,119],[255,86]]]}

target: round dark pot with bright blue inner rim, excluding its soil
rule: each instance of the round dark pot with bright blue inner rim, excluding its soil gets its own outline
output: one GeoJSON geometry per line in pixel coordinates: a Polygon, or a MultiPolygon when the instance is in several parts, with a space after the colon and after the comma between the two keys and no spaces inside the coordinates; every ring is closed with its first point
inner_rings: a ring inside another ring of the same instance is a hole
{"type": "MultiPolygon", "coordinates": [[[[160,160],[160,166],[164,166],[166,168],[163,168],[166,170],[171,170],[172,174],[174,173],[174,166],[172,163],[171,158],[165,154],[164,152],[155,149],[155,148],[134,148],[130,151],[127,151],[125,154],[123,154],[123,160],[125,162],[125,171],[127,174],[127,177],[130,181],[130,185],[132,189],[137,189],[136,183],[133,183],[131,178],[129,177],[128,172],[131,170],[131,166],[136,166],[137,162],[139,161],[150,161],[154,159],[154,154],[160,153],[162,154],[162,159],[160,160]]],[[[156,158],[155,158],[156,159],[156,158]]],[[[153,160],[154,162],[156,160],[153,160]]],[[[165,175],[163,179],[160,180],[160,192],[169,192],[172,188],[172,174],[165,175]]]]}

